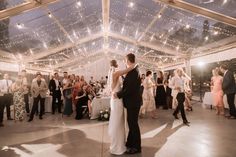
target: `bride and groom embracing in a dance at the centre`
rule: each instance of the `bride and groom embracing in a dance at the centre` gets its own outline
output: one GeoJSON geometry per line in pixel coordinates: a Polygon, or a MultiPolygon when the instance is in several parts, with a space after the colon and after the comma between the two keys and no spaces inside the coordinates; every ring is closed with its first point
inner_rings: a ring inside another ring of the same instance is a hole
{"type": "Polygon", "coordinates": [[[115,155],[141,153],[141,135],[138,125],[138,115],[141,106],[141,78],[135,55],[130,53],[125,58],[127,69],[117,70],[118,64],[111,61],[108,76],[108,88],[111,96],[111,116],[108,133],[111,137],[110,152],[115,155]],[[125,75],[125,77],[123,77],[125,75]],[[123,85],[122,85],[122,77],[123,85]],[[127,122],[129,133],[125,142],[125,116],[127,109],[127,122]]]}

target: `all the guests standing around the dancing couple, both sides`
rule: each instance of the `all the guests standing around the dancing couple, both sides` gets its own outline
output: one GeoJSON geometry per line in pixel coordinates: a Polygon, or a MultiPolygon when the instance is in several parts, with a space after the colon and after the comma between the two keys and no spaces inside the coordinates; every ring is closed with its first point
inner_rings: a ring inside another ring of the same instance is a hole
{"type": "MultiPolygon", "coordinates": [[[[236,85],[233,73],[226,65],[212,70],[211,92],[217,115],[224,115],[230,119],[236,119],[234,104],[236,85]],[[225,115],[223,95],[226,94],[229,104],[229,115],[225,115]]],[[[49,83],[40,72],[36,73],[31,83],[27,80],[26,71],[22,70],[13,82],[8,74],[4,74],[0,80],[0,127],[3,125],[4,109],[6,108],[7,120],[23,121],[25,115],[29,117],[28,122],[33,121],[35,115],[43,119],[45,113],[45,98],[48,94],[52,96],[52,114],[56,112],[71,116],[76,112],[75,119],[79,120],[84,115],[91,115],[91,102],[105,88],[107,77],[99,81],[90,78],[87,83],[84,76],[69,75],[63,73],[63,78],[54,73],[49,83]],[[30,110],[29,98],[33,99],[30,110]],[[11,113],[10,106],[13,104],[11,113]],[[14,115],[14,117],[12,117],[14,115]]],[[[178,118],[181,113],[183,123],[188,125],[185,111],[192,111],[191,105],[191,78],[183,71],[176,69],[172,75],[164,76],[158,71],[156,78],[151,71],[141,76],[142,80],[142,107],[140,118],[150,116],[157,118],[157,109],[174,109],[173,116],[178,118]]]]}

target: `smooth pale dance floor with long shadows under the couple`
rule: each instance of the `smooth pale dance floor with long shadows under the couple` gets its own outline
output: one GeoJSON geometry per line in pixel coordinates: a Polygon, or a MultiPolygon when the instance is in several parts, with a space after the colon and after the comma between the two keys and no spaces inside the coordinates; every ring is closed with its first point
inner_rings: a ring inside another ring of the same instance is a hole
{"type": "MultiPolygon", "coordinates": [[[[138,157],[234,157],[236,120],[216,116],[194,104],[190,127],[174,120],[171,110],[158,119],[140,119],[142,153],[138,157]]],[[[107,122],[46,114],[33,122],[5,121],[0,128],[0,157],[112,157],[107,122]]]]}

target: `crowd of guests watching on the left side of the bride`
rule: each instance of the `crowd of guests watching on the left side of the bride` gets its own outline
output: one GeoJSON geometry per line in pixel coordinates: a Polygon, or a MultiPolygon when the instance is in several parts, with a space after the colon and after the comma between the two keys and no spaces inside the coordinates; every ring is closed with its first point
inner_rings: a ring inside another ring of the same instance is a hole
{"type": "Polygon", "coordinates": [[[25,70],[18,74],[14,82],[9,74],[4,74],[0,80],[0,127],[4,126],[5,108],[7,120],[23,121],[26,115],[29,117],[28,122],[33,121],[35,115],[43,119],[45,99],[49,94],[52,96],[52,114],[58,112],[70,116],[76,111],[75,119],[81,119],[86,113],[90,116],[92,99],[104,89],[107,78],[95,81],[91,77],[87,83],[84,76],[68,75],[67,72],[63,75],[60,79],[59,74],[54,73],[47,83],[43,75],[37,72],[29,83],[25,70]],[[33,99],[31,108],[30,96],[33,99]],[[14,113],[11,113],[11,105],[14,113]]]}

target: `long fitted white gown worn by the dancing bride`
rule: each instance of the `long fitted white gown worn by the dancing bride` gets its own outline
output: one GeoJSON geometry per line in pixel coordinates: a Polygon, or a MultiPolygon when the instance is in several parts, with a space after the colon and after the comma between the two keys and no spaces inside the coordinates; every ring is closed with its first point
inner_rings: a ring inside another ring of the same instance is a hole
{"type": "MultiPolygon", "coordinates": [[[[116,87],[112,92],[121,90],[121,79],[117,81],[116,87]]],[[[115,155],[121,155],[126,151],[125,147],[125,118],[122,99],[111,97],[111,114],[109,120],[108,133],[111,138],[110,152],[115,155]]]]}

